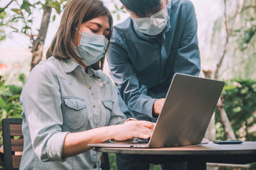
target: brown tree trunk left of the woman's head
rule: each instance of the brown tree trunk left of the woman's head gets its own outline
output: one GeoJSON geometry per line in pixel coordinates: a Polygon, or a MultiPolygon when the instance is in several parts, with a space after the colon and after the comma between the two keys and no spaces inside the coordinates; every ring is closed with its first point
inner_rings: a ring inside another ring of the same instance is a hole
{"type": "Polygon", "coordinates": [[[38,32],[38,36],[35,39],[35,41],[33,41],[33,46],[31,50],[32,52],[31,70],[33,69],[33,67],[36,66],[36,64],[38,64],[38,62],[42,60],[43,50],[44,50],[44,41],[45,41],[45,37],[49,27],[51,12],[52,12],[52,8],[47,6],[47,1],[46,1],[44,5],[44,14],[43,14],[41,26],[38,32]]]}

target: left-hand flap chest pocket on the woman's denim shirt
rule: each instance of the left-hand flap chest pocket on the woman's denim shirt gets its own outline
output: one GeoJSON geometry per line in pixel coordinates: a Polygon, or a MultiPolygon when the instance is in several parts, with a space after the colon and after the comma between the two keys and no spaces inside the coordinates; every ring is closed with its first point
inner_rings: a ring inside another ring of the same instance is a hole
{"type": "Polygon", "coordinates": [[[88,121],[86,102],[79,97],[63,97],[64,124],[74,131],[83,128],[88,121]]]}

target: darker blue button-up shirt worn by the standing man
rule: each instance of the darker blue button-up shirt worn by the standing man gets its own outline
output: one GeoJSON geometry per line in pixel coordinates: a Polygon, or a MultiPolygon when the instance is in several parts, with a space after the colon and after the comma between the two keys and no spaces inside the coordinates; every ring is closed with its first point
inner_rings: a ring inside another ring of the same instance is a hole
{"type": "Polygon", "coordinates": [[[169,1],[170,20],[161,40],[134,27],[131,17],[116,25],[107,55],[121,111],[127,117],[151,120],[156,99],[166,97],[175,73],[198,76],[200,53],[191,1],[169,1]]]}

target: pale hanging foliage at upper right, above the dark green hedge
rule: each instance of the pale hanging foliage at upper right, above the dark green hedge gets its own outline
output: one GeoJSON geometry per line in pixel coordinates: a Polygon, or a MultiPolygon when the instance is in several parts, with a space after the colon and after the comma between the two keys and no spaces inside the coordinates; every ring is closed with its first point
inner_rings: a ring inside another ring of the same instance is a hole
{"type": "MultiPolygon", "coordinates": [[[[225,27],[225,15],[221,15],[214,22],[211,36],[212,52],[220,57],[223,55],[228,29],[230,33],[228,34],[228,49],[219,75],[222,75],[223,78],[255,79],[256,54],[250,54],[256,52],[256,6],[255,2],[253,4],[252,1],[244,1],[241,13],[237,13],[238,2],[227,0],[228,27],[225,27]],[[237,18],[238,20],[236,20],[237,18]],[[228,71],[227,74],[223,74],[226,71],[228,71]]],[[[216,58],[216,55],[209,57],[216,58]]],[[[220,57],[217,58],[217,61],[220,60],[220,57]]]]}

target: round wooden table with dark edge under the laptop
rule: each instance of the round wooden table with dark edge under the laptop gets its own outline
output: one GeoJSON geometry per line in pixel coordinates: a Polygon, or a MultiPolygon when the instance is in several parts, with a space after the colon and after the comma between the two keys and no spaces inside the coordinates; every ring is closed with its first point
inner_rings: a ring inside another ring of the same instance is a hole
{"type": "Polygon", "coordinates": [[[100,148],[93,150],[107,153],[137,154],[152,163],[188,162],[188,169],[206,169],[206,162],[225,164],[249,164],[256,162],[256,142],[219,145],[177,146],[170,148],[100,148]],[[146,155],[146,156],[145,156],[146,155]],[[157,159],[156,159],[157,158],[157,159]]]}

